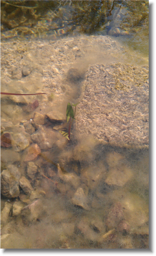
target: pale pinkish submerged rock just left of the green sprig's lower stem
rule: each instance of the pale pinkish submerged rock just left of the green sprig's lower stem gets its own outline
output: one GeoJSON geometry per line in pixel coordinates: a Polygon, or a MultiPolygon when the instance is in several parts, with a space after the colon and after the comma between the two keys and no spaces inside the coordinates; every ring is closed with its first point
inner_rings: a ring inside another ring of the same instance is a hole
{"type": "Polygon", "coordinates": [[[47,150],[56,142],[56,132],[50,128],[43,128],[42,126],[31,135],[32,141],[39,145],[39,148],[47,150]]]}

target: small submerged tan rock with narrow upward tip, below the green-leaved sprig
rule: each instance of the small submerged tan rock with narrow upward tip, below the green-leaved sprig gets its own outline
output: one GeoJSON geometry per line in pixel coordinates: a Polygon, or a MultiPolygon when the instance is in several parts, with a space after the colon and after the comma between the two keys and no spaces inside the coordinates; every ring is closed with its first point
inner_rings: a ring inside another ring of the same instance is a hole
{"type": "Polygon", "coordinates": [[[77,189],[77,187],[80,185],[80,178],[74,173],[74,172],[65,172],[63,173],[60,165],[58,164],[58,176],[61,180],[65,181],[65,183],[69,183],[74,187],[74,189],[77,189]]]}

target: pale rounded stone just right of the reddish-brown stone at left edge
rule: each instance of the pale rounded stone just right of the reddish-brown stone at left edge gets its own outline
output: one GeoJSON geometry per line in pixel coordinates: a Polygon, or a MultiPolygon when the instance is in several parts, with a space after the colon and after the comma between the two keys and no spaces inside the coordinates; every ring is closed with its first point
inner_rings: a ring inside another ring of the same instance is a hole
{"type": "Polygon", "coordinates": [[[29,146],[29,141],[23,134],[12,134],[12,146],[15,152],[20,152],[29,146]]]}

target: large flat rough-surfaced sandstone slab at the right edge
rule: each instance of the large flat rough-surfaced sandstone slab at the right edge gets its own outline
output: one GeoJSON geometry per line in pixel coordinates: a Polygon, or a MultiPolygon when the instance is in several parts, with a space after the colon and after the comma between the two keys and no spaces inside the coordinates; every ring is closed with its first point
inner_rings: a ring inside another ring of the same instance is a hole
{"type": "Polygon", "coordinates": [[[92,65],[78,105],[76,132],[117,146],[148,147],[148,67],[92,65]]]}

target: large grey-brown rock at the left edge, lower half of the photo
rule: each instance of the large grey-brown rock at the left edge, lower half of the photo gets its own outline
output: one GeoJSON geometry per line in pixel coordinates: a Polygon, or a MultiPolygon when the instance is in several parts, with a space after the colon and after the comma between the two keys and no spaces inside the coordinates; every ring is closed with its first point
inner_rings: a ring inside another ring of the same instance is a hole
{"type": "Polygon", "coordinates": [[[19,196],[20,172],[14,165],[8,165],[0,174],[0,192],[8,198],[19,196]]]}

